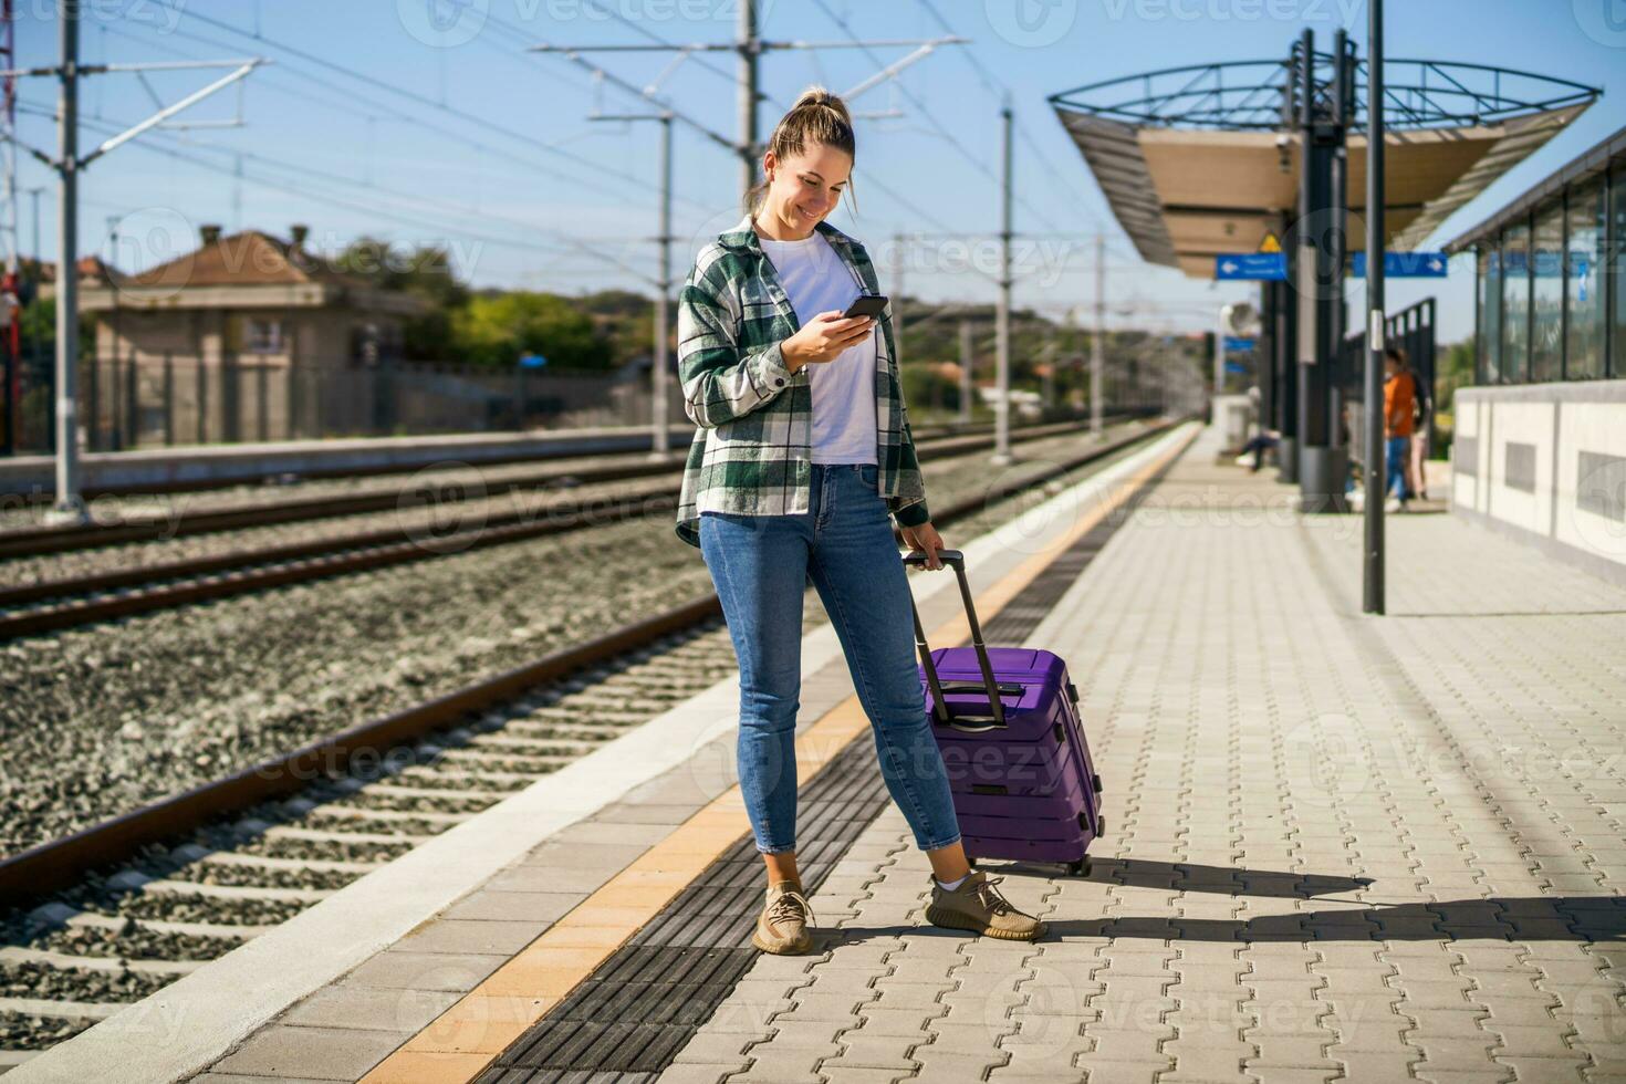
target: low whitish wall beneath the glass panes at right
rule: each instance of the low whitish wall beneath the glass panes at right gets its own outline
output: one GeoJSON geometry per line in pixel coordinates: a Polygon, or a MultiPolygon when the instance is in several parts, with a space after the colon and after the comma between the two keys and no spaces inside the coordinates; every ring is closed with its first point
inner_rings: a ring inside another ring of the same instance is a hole
{"type": "Polygon", "coordinates": [[[1626,582],[1626,380],[1460,388],[1450,509],[1626,582]]]}

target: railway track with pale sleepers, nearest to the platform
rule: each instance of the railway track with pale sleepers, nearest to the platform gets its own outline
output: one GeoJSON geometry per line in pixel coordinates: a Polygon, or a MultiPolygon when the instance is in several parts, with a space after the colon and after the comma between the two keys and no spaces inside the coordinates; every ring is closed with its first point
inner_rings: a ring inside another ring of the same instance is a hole
{"type": "MultiPolygon", "coordinates": [[[[937,518],[984,514],[1164,429],[1091,449],[937,518]]],[[[0,1071],[733,668],[709,595],[0,861],[0,904],[11,908],[0,913],[0,1071]]]]}

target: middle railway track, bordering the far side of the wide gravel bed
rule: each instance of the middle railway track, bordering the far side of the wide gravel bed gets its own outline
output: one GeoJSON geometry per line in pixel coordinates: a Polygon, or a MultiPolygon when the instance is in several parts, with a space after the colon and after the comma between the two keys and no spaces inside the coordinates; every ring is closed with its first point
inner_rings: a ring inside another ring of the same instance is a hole
{"type": "MultiPolygon", "coordinates": [[[[1078,429],[1076,423],[1031,426],[1020,431],[1018,439],[1021,442],[1041,440],[1078,429]]],[[[922,449],[935,455],[956,455],[976,452],[990,447],[990,437],[972,436],[937,440],[922,445],[922,449]]],[[[639,465],[639,468],[647,466],[639,465]]],[[[670,475],[672,468],[663,465],[660,471],[670,475]]],[[[548,478],[558,479],[556,476],[548,478]]],[[[498,492],[512,492],[522,484],[524,479],[511,479],[498,492]]],[[[450,499],[450,510],[457,510],[463,496],[450,499]]],[[[374,496],[353,497],[351,501],[366,505],[358,510],[377,510],[372,507],[374,496]]],[[[402,504],[398,494],[390,501],[390,507],[402,504]]],[[[590,501],[561,497],[524,507],[511,505],[501,512],[480,509],[478,514],[468,517],[467,523],[454,523],[449,528],[423,522],[420,515],[416,525],[397,523],[382,530],[341,536],[0,587],[0,640],[672,512],[676,509],[676,502],[678,489],[668,478],[624,494],[590,501]]],[[[332,502],[324,502],[324,505],[327,504],[332,502]]],[[[281,507],[273,510],[281,512],[281,507]]],[[[444,509],[436,504],[429,510],[439,514],[444,509]]],[[[233,515],[242,512],[237,510],[233,515]]],[[[119,528],[104,530],[117,533],[119,528]]]]}

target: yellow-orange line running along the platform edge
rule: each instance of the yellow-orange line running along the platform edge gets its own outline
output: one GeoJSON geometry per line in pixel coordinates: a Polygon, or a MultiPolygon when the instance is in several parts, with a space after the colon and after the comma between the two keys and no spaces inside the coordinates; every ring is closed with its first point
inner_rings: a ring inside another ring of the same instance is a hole
{"type": "MultiPolygon", "coordinates": [[[[1180,455],[1193,436],[1195,431],[1133,478],[1112,486],[1065,533],[1037,548],[1016,569],[977,595],[977,613],[992,616],[1003,609],[1052,561],[1180,455]]],[[[932,629],[928,640],[958,644],[969,635],[971,626],[961,613],[932,629]]],[[[857,694],[833,707],[797,735],[797,778],[805,783],[818,775],[868,730],[870,720],[857,694]]],[[[402,1043],[361,1077],[361,1084],[473,1081],[750,830],[751,822],[737,783],[548,926],[424,1030],[402,1043]]]]}

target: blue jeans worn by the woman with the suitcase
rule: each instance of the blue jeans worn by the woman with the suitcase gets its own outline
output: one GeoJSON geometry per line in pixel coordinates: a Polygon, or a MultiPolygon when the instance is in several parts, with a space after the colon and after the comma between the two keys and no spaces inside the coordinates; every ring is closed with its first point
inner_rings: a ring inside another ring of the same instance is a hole
{"type": "Polygon", "coordinates": [[[805,514],[702,512],[699,533],[740,658],[740,790],[756,848],[797,848],[795,730],[810,579],[870,717],[881,777],[915,843],[937,850],[959,840],[915,668],[909,579],[876,466],[815,463],[805,514]]]}

